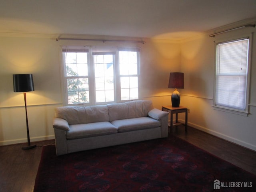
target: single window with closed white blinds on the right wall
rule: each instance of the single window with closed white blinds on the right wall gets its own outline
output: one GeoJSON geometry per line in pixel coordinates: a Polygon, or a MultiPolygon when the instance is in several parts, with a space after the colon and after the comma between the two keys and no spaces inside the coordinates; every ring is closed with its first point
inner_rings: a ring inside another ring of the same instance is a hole
{"type": "Polygon", "coordinates": [[[247,110],[249,38],[216,44],[215,104],[247,110]]]}

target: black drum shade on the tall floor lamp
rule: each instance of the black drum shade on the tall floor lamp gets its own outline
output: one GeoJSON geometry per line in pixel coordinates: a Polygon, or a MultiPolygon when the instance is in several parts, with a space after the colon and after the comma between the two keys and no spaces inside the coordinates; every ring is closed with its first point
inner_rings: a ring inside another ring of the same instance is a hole
{"type": "Polygon", "coordinates": [[[14,92],[34,91],[34,82],[32,74],[15,74],[13,77],[14,92]]]}

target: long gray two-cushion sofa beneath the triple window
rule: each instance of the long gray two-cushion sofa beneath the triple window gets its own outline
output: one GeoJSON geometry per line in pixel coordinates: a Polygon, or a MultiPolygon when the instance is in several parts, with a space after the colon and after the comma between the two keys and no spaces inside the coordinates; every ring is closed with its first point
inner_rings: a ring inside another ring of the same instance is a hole
{"type": "Polygon", "coordinates": [[[53,122],[56,154],[168,136],[168,112],[149,100],[98,106],[64,106],[53,122]]]}

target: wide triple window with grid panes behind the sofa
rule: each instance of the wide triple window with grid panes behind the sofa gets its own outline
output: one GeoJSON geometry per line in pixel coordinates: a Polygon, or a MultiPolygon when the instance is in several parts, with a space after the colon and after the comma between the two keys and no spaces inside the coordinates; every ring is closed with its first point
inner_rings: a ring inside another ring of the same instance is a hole
{"type": "Polygon", "coordinates": [[[62,47],[67,105],[138,99],[139,49],[109,50],[62,47]]]}

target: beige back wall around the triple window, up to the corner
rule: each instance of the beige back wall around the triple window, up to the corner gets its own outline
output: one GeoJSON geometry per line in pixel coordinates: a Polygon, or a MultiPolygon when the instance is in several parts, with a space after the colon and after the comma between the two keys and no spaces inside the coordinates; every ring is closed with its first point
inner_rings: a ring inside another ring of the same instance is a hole
{"type": "MultiPolygon", "coordinates": [[[[168,74],[180,68],[179,44],[173,41],[148,39],[146,44],[131,44],[55,39],[51,35],[0,34],[0,145],[27,141],[24,98],[13,92],[12,74],[33,74],[35,91],[27,93],[30,140],[54,138],[54,108],[63,105],[61,45],[140,46],[142,99],[169,94],[168,74]]],[[[159,98],[154,103],[157,108],[163,104],[159,98]]]]}

